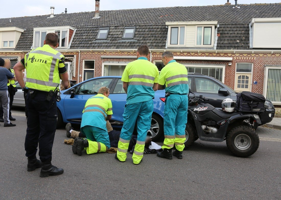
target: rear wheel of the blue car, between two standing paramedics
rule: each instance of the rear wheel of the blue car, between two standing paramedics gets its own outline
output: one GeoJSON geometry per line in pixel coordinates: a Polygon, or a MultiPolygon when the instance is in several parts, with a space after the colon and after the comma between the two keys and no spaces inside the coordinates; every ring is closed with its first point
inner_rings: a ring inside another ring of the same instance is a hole
{"type": "Polygon", "coordinates": [[[159,138],[162,137],[163,133],[163,118],[153,113],[151,117],[151,126],[150,129],[147,131],[147,136],[150,137],[152,141],[157,141],[159,138]]]}

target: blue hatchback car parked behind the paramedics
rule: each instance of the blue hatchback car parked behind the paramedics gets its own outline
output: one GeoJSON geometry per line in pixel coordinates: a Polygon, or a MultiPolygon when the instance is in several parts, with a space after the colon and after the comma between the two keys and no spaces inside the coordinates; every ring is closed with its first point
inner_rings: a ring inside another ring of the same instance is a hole
{"type": "MultiPolygon", "coordinates": [[[[127,94],[123,89],[121,76],[103,76],[91,78],[73,87],[61,91],[61,101],[57,103],[58,122],[57,126],[63,123],[80,124],[82,119],[82,111],[86,101],[95,96],[101,87],[110,89],[109,98],[112,101],[113,115],[110,120],[113,127],[121,128],[123,125],[123,112],[125,109],[127,94]]],[[[148,136],[156,140],[163,135],[163,111],[165,101],[164,90],[155,92],[153,99],[154,108],[151,120],[151,127],[148,136]]]]}

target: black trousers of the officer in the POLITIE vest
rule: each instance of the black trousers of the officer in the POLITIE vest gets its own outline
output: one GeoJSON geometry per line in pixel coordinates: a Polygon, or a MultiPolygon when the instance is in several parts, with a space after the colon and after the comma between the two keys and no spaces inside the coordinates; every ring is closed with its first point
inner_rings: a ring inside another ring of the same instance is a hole
{"type": "Polygon", "coordinates": [[[26,106],[28,110],[27,130],[24,148],[26,156],[35,158],[39,143],[39,157],[42,162],[51,162],[52,148],[56,132],[56,97],[46,101],[47,92],[36,91],[31,98],[27,94],[26,106]]]}

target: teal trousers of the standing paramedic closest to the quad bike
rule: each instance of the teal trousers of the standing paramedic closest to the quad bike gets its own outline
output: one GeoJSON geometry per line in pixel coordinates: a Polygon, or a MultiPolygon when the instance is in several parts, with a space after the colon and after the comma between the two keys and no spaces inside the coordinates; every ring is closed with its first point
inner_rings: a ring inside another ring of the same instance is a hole
{"type": "Polygon", "coordinates": [[[164,144],[162,148],[182,151],[185,142],[188,97],[186,94],[171,94],[164,106],[164,144]]]}

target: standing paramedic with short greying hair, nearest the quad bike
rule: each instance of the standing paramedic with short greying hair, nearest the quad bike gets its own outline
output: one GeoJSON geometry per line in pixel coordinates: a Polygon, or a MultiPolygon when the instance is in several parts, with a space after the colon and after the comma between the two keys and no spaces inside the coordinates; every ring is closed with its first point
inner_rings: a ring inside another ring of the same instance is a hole
{"type": "Polygon", "coordinates": [[[172,159],[176,156],[182,159],[185,142],[185,124],[187,123],[187,105],[189,91],[187,69],[173,60],[173,54],[165,51],[162,54],[165,67],[159,75],[158,90],[166,91],[164,106],[164,144],[163,151],[158,152],[160,158],[172,159]],[[173,152],[172,148],[176,147],[173,152]]]}

